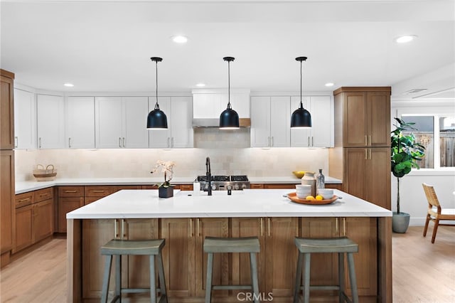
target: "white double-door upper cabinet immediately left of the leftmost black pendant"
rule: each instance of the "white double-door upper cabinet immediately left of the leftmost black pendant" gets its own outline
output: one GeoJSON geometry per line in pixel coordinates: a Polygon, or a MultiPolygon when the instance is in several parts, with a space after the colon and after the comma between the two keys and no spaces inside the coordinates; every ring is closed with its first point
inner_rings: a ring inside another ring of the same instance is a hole
{"type": "Polygon", "coordinates": [[[95,97],[95,147],[148,148],[147,97],[95,97]]]}

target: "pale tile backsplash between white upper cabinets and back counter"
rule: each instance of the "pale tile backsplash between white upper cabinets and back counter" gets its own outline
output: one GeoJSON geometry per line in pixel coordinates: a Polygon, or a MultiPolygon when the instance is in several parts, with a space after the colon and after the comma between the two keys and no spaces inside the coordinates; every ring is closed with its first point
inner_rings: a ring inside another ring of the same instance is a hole
{"type": "MultiPolygon", "coordinates": [[[[245,148],[245,134],[220,134],[219,130],[195,132],[193,149],[39,149],[16,150],[16,181],[33,180],[36,164],[54,164],[60,178],[147,177],[157,160],[175,161],[174,176],[205,174],[210,156],[213,174],[247,176],[293,176],[294,170],[328,171],[328,149],[245,148]],[[217,134],[218,133],[218,134],[217,134]],[[206,147],[207,142],[217,143],[206,147]],[[222,138],[220,138],[222,137],[222,138]],[[242,139],[239,139],[242,138],[242,139]],[[233,140],[233,142],[232,142],[233,140]],[[239,145],[239,146],[237,146],[239,145]]],[[[249,135],[249,132],[248,132],[249,135]]]]}

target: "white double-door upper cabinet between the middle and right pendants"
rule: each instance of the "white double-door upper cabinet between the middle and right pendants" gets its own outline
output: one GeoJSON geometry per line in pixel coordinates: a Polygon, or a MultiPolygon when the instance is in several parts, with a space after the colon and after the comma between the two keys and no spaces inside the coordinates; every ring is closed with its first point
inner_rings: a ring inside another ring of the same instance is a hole
{"type": "Polygon", "coordinates": [[[290,97],[251,97],[251,147],[289,147],[290,97]]]}

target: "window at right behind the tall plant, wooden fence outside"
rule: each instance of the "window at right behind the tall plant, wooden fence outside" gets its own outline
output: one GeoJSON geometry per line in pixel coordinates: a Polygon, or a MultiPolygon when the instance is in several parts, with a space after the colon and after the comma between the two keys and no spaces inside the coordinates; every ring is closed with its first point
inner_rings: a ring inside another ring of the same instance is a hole
{"type": "Polygon", "coordinates": [[[425,147],[420,168],[455,167],[455,115],[402,114],[402,119],[415,123],[412,133],[425,147]]]}

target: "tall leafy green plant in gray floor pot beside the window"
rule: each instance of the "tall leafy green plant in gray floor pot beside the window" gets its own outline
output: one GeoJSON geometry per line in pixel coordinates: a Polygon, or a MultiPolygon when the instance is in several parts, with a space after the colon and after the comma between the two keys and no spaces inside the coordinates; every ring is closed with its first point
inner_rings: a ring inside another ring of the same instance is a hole
{"type": "Polygon", "coordinates": [[[410,224],[410,214],[400,211],[400,179],[409,174],[412,168],[419,169],[417,161],[422,160],[425,147],[419,144],[412,134],[412,130],[417,130],[412,125],[413,122],[405,122],[402,119],[394,118],[397,124],[394,124],[395,130],[391,136],[391,170],[397,178],[397,211],[393,212],[392,230],[395,233],[406,233],[410,224]],[[409,134],[403,134],[409,132],[409,134]]]}

